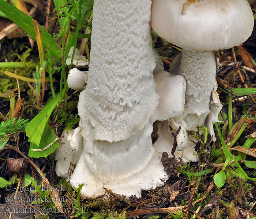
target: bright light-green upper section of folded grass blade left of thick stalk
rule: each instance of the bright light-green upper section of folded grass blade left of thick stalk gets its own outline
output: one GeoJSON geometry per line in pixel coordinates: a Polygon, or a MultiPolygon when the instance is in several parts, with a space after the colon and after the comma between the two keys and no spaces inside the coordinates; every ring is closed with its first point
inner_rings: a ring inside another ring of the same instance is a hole
{"type": "MultiPolygon", "coordinates": [[[[64,95],[64,92],[63,92],[63,95],[64,95]]],[[[52,114],[52,111],[56,107],[57,103],[59,103],[60,98],[61,99],[63,98],[63,95],[60,95],[60,93],[58,93],[56,95],[56,97],[54,97],[50,101],[50,103],[48,103],[45,106],[45,108],[41,112],[39,112],[39,114],[37,114],[34,117],[34,119],[32,119],[29,122],[29,124],[27,124],[27,126],[25,128],[26,134],[27,134],[27,137],[29,137],[29,141],[33,145],[39,146],[39,144],[41,143],[41,138],[42,138],[42,134],[44,132],[45,125],[46,125],[50,115],[52,114]]]]}

